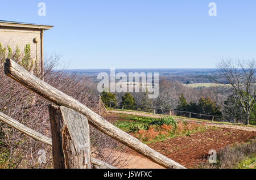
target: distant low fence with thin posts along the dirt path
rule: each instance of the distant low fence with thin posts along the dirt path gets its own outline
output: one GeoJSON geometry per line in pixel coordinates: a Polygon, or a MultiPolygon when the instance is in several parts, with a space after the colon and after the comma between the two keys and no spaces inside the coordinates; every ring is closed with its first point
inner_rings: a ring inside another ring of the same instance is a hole
{"type": "MultiPolygon", "coordinates": [[[[212,122],[230,122],[234,124],[246,124],[246,119],[236,118],[236,117],[229,117],[226,118],[220,115],[211,115],[211,114],[200,114],[200,113],[193,113],[193,112],[186,112],[182,110],[176,109],[162,109],[162,108],[152,108],[152,107],[139,107],[139,106],[130,106],[130,105],[123,105],[123,104],[114,104],[114,103],[105,103],[104,104],[107,108],[112,109],[122,109],[122,110],[137,110],[137,112],[147,112],[153,114],[163,114],[163,115],[176,115],[181,117],[187,117],[189,119],[196,118],[196,119],[204,119],[212,122]]],[[[250,125],[256,125],[256,119],[249,119],[250,125]]]]}

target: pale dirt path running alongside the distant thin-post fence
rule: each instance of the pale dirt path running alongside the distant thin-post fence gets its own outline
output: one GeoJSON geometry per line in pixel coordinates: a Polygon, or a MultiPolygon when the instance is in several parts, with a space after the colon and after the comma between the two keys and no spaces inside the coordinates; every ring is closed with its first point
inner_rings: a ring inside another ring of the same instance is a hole
{"type": "MultiPolygon", "coordinates": [[[[139,115],[143,117],[151,117],[151,118],[162,118],[165,115],[160,114],[146,114],[141,112],[126,112],[126,111],[119,111],[119,110],[109,110],[110,113],[119,113],[119,114],[131,114],[131,115],[139,115]]],[[[195,120],[189,120],[189,119],[181,119],[181,118],[175,118],[177,121],[189,121],[189,122],[196,122],[196,123],[204,123],[207,126],[215,126],[215,127],[222,127],[222,128],[232,128],[234,130],[243,130],[243,131],[251,131],[256,132],[256,127],[249,127],[249,126],[239,126],[239,125],[225,125],[225,124],[219,124],[219,123],[209,123],[209,122],[201,122],[201,121],[195,121],[195,120]]]]}

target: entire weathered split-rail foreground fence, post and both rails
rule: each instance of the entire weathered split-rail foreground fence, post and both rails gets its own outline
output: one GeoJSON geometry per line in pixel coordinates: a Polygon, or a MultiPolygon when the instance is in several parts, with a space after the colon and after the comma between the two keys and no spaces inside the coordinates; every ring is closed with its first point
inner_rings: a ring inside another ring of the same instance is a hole
{"type": "Polygon", "coordinates": [[[0,113],[0,121],[18,129],[40,142],[52,145],[55,168],[114,168],[92,158],[90,155],[89,125],[104,134],[127,145],[164,168],[185,168],[179,163],[163,156],[138,139],[115,127],[81,102],[53,88],[43,80],[32,75],[11,59],[6,59],[5,74],[31,91],[53,102],[49,105],[52,139],[0,113]]]}

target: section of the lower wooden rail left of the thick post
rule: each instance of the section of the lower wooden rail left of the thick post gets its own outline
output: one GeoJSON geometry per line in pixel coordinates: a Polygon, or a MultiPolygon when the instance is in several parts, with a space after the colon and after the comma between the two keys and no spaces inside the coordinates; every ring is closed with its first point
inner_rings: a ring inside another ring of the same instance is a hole
{"type": "Polygon", "coordinates": [[[15,121],[13,118],[9,117],[6,114],[3,114],[0,112],[0,121],[5,122],[7,125],[16,128],[16,130],[19,130],[20,132],[30,136],[31,138],[35,140],[39,140],[42,143],[51,145],[52,141],[47,136],[44,136],[40,134],[39,132],[36,132],[32,130],[31,128],[28,128],[27,126],[22,125],[22,123],[19,123],[18,121],[15,121]]]}

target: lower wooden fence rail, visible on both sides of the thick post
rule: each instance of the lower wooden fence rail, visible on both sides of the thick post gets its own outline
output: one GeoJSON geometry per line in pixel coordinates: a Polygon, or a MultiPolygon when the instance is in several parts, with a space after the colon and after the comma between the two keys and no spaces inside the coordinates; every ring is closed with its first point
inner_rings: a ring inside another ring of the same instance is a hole
{"type": "MultiPolygon", "coordinates": [[[[26,134],[30,136],[31,138],[38,140],[39,142],[52,145],[52,139],[48,138],[45,135],[40,134],[39,132],[36,132],[32,130],[31,128],[28,128],[27,126],[22,125],[18,121],[14,120],[13,118],[9,117],[6,114],[3,114],[0,112],[0,121],[6,123],[7,125],[16,128],[16,130],[22,132],[23,134],[26,134]]],[[[114,166],[111,166],[109,164],[106,164],[106,162],[103,162],[101,160],[98,160],[97,158],[90,158],[92,163],[92,168],[95,169],[116,169],[114,166]]]]}

